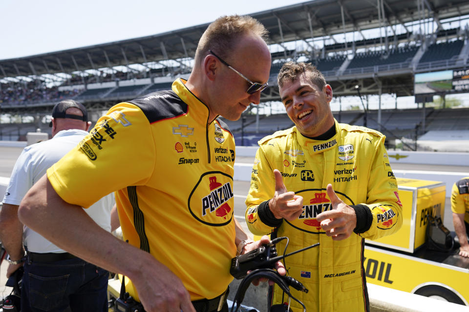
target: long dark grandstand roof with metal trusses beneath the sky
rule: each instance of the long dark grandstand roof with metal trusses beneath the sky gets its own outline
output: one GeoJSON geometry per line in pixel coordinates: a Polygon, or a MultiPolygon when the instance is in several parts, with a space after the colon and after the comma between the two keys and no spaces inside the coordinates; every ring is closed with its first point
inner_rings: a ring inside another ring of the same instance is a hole
{"type": "MultiPolygon", "coordinates": [[[[388,23],[397,20],[402,24],[418,20],[416,2],[383,0],[385,19],[388,23]]],[[[469,14],[467,0],[423,2],[430,16],[436,20],[469,14]]],[[[269,30],[269,43],[277,44],[293,40],[304,40],[310,44],[314,38],[378,28],[381,24],[377,2],[373,0],[314,0],[250,15],[269,30]]],[[[70,73],[165,59],[192,58],[207,26],[208,23],[148,37],[3,59],[0,60],[0,77],[70,73]]]]}

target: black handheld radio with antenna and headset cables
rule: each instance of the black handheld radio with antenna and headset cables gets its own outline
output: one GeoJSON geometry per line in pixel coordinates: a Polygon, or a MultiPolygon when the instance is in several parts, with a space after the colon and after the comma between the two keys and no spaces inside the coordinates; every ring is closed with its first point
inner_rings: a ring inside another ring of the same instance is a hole
{"type": "MultiPolygon", "coordinates": [[[[277,261],[282,259],[283,265],[285,265],[285,257],[293,254],[298,254],[307,249],[319,246],[319,243],[299,249],[290,254],[285,254],[288,242],[288,237],[277,237],[273,239],[269,244],[265,244],[253,251],[250,251],[249,253],[238,255],[232,259],[230,273],[237,279],[242,278],[242,281],[239,284],[235,294],[235,298],[233,299],[231,312],[237,312],[239,306],[241,305],[241,302],[244,299],[244,294],[246,293],[251,282],[261,277],[268,278],[269,280],[276,283],[282,289],[282,291],[288,295],[289,302],[290,298],[297,301],[303,307],[303,311],[306,311],[306,307],[304,306],[304,304],[291,294],[289,287],[291,286],[300,292],[308,292],[308,290],[303,286],[301,282],[297,281],[292,276],[280,275],[277,271],[273,269],[277,261]],[[275,244],[282,239],[287,240],[285,250],[283,252],[283,255],[277,256],[277,249],[275,247],[275,244]],[[248,271],[251,272],[248,273],[248,271]]],[[[288,306],[285,306],[283,304],[272,306],[270,311],[289,312],[290,304],[288,304],[288,306]]]]}

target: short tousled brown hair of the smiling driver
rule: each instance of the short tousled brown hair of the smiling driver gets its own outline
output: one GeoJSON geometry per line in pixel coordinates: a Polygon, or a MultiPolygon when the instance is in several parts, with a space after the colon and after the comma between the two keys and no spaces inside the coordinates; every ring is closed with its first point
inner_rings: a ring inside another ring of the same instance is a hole
{"type": "Polygon", "coordinates": [[[305,73],[309,80],[317,85],[320,90],[326,85],[326,79],[324,75],[319,71],[319,69],[311,63],[295,63],[295,62],[286,62],[280,68],[280,72],[277,76],[277,83],[279,87],[283,87],[285,81],[295,81],[298,77],[305,73]]]}

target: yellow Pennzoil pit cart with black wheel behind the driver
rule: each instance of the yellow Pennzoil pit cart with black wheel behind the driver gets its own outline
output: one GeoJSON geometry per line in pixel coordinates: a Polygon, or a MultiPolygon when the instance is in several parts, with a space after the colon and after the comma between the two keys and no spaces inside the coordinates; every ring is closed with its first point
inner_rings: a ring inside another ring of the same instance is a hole
{"type": "Polygon", "coordinates": [[[445,184],[404,178],[397,183],[403,226],[393,235],[365,241],[367,283],[468,306],[469,258],[459,256],[459,245],[448,252],[426,246],[425,215],[444,217],[445,184]]]}

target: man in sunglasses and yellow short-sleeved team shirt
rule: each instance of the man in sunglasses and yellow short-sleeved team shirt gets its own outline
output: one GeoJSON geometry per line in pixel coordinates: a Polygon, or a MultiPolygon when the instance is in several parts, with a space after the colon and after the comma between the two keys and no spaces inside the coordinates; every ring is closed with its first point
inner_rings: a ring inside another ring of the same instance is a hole
{"type": "Polygon", "coordinates": [[[236,120],[259,103],[271,65],[265,35],[250,17],[215,20],[190,78],[112,107],[25,196],[21,221],[128,276],[148,312],[228,311],[231,258],[259,242],[234,219],[235,142],[217,117],[236,120]],[[76,209],[112,191],[128,244],[76,209]]]}

